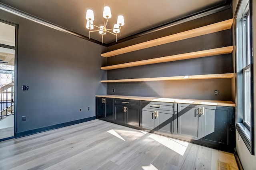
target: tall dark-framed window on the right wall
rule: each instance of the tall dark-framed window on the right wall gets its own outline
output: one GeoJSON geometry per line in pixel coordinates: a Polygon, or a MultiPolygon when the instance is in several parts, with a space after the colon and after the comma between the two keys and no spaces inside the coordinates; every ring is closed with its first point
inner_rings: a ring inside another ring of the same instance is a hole
{"type": "Polygon", "coordinates": [[[236,17],[236,129],[254,154],[252,33],[249,0],[241,0],[236,17]]]}

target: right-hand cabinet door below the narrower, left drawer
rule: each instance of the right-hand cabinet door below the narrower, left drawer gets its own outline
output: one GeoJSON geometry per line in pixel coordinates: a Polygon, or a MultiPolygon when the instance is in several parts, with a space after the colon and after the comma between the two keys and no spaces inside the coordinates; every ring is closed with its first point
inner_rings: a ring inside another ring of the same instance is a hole
{"type": "Polygon", "coordinates": [[[140,125],[139,107],[132,107],[132,106],[126,106],[126,107],[127,107],[126,123],[132,126],[139,126],[140,125]]]}

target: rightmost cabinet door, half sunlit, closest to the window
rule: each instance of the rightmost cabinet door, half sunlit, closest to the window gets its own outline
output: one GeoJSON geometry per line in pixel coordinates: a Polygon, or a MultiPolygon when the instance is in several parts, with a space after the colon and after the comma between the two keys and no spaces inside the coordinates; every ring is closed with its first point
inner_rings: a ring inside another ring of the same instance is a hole
{"type": "MultiPolygon", "coordinates": [[[[202,141],[212,144],[228,144],[229,127],[232,127],[232,108],[202,106],[202,141]]],[[[229,134],[230,133],[230,134],[229,134]]]]}

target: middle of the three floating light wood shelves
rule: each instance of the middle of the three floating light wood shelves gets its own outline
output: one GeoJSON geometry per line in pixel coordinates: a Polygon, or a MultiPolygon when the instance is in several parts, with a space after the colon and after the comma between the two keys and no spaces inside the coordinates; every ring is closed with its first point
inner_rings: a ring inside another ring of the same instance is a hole
{"type": "Polygon", "coordinates": [[[178,55],[174,55],[174,56],[153,58],[153,59],[141,60],[141,61],[136,61],[136,62],[128,62],[128,63],[124,63],[124,64],[116,64],[116,65],[112,65],[112,66],[101,67],[101,69],[102,70],[113,70],[113,69],[118,69],[118,68],[142,66],[142,65],[156,64],[156,63],[161,63],[161,62],[185,60],[185,59],[190,59],[190,58],[215,56],[215,55],[220,55],[220,54],[229,54],[232,51],[233,51],[233,46],[228,46],[228,47],[222,47],[222,48],[214,48],[214,49],[210,49],[210,50],[178,54],[178,55]]]}

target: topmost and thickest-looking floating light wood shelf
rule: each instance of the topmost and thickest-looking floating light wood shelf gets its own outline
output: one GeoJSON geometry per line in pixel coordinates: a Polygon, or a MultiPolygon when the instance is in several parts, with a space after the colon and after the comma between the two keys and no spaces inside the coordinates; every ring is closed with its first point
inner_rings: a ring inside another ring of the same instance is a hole
{"type": "Polygon", "coordinates": [[[106,53],[101,54],[101,56],[102,57],[116,56],[119,54],[124,54],[127,52],[141,50],[144,48],[149,48],[149,47],[158,46],[158,45],[162,45],[162,44],[166,44],[166,43],[170,43],[170,42],[184,40],[187,38],[192,38],[192,37],[202,36],[205,34],[210,34],[210,33],[218,32],[218,31],[228,30],[231,28],[232,24],[233,24],[233,19],[222,21],[222,22],[217,22],[215,24],[210,24],[210,25],[203,26],[200,28],[195,28],[195,29],[180,32],[177,34],[172,34],[172,35],[165,36],[162,38],[157,38],[154,40],[142,42],[142,43],[135,44],[132,46],[120,48],[118,50],[106,52],[106,53]]]}

